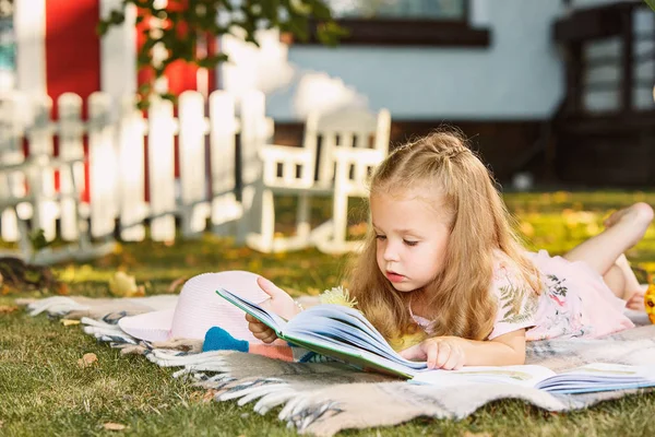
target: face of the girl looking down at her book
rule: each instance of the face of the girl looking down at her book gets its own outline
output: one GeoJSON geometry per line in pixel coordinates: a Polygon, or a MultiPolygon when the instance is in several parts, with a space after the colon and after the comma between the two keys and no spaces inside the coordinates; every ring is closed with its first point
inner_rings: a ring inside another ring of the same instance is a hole
{"type": "Polygon", "coordinates": [[[371,196],[378,268],[398,292],[427,285],[443,269],[450,217],[441,200],[425,190],[371,196]]]}

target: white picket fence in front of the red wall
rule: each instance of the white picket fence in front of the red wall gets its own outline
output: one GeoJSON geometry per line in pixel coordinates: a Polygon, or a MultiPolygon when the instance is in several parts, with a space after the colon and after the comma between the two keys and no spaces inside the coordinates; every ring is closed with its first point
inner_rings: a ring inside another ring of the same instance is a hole
{"type": "MultiPolygon", "coordinates": [[[[252,92],[245,97],[249,98],[259,102],[262,95],[252,92]]],[[[241,144],[242,155],[255,156],[257,152],[249,149],[266,142],[273,131],[263,105],[237,105],[230,94],[222,91],[212,93],[209,102],[198,92],[184,92],[179,97],[177,117],[170,102],[155,99],[144,118],[133,96],[115,103],[107,94],[94,93],[88,97],[88,117],[84,120],[82,104],[79,95],[61,95],[57,101],[58,119],[52,120],[52,102],[47,96],[0,96],[3,240],[19,240],[20,224],[28,220],[33,227],[43,228],[49,240],[56,237],[57,220],[64,240],[79,239],[84,223],[91,223],[88,231],[94,238],[111,236],[117,221],[123,240],[143,240],[146,218],[153,240],[172,240],[176,215],[181,217],[183,236],[205,231],[207,220],[214,232],[236,232],[237,226],[231,224],[241,215],[235,190],[237,134],[249,139],[241,144]],[[238,116],[237,107],[245,108],[238,116]],[[241,126],[258,131],[241,132],[241,126]],[[179,177],[175,175],[176,139],[179,177]],[[57,160],[63,164],[60,167],[53,158],[55,141],[57,160]],[[85,141],[88,187],[84,187],[82,162],[85,141]],[[23,152],[24,142],[28,156],[23,152]],[[66,170],[67,166],[71,172],[66,170]],[[58,190],[56,168],[60,168],[58,190]],[[88,192],[90,202],[80,202],[83,190],[88,192]]]]}

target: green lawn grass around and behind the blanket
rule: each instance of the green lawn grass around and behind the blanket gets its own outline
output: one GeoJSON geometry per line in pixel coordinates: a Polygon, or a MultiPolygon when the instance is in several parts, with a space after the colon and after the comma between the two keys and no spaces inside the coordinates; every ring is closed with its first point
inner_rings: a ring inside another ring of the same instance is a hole
{"type": "MultiPolygon", "coordinates": [[[[598,224],[612,208],[636,200],[655,204],[655,193],[531,193],[508,194],[505,202],[516,213],[517,225],[529,248],[562,253],[598,232],[598,224]],[[568,210],[562,213],[563,210],[568,210]]],[[[291,201],[279,218],[289,228],[291,201]]],[[[314,220],[326,205],[314,208],[314,220]]],[[[357,232],[357,227],[353,228],[357,232]]],[[[648,229],[629,257],[655,271],[655,228],[648,229]]],[[[135,275],[148,294],[167,293],[180,277],[229,269],[261,273],[293,294],[318,294],[340,283],[347,257],[315,250],[285,255],[261,255],[236,248],[227,239],[211,235],[172,246],[123,244],[120,250],[88,264],[57,267],[70,294],[107,296],[107,280],[117,270],[135,275]]],[[[0,306],[16,297],[48,296],[47,292],[0,295],[0,306]]],[[[45,316],[22,310],[0,311],[0,435],[291,435],[275,412],[265,416],[235,402],[209,402],[204,392],[171,378],[141,356],[120,356],[118,351],[84,334],[79,326],[64,327],[45,316]],[[97,363],[78,366],[85,353],[97,363]],[[126,426],[122,432],[103,428],[106,423],[126,426]]],[[[652,435],[655,394],[627,397],[568,414],[550,414],[521,401],[499,401],[484,406],[466,420],[418,418],[408,424],[346,435],[499,435],[499,436],[595,436],[652,435]]]]}

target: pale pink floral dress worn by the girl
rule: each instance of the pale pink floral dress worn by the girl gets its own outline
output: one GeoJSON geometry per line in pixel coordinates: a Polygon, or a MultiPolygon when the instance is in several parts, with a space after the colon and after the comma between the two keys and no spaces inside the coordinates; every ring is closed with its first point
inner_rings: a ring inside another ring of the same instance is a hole
{"type": "Polygon", "coordinates": [[[582,261],[550,257],[546,250],[527,253],[541,273],[541,294],[535,295],[517,277],[509,258],[497,252],[492,293],[498,316],[489,340],[526,329],[526,340],[595,338],[632,328],[603,276],[582,261]]]}

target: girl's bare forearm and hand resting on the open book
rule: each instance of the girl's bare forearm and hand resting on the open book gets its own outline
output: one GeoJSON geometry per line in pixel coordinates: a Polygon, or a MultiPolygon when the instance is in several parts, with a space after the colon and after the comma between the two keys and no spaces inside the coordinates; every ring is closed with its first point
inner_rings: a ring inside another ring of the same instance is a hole
{"type": "Polygon", "coordinates": [[[425,359],[428,368],[462,366],[510,366],[525,363],[525,329],[489,341],[458,336],[434,336],[401,352],[407,359],[425,359]]]}

